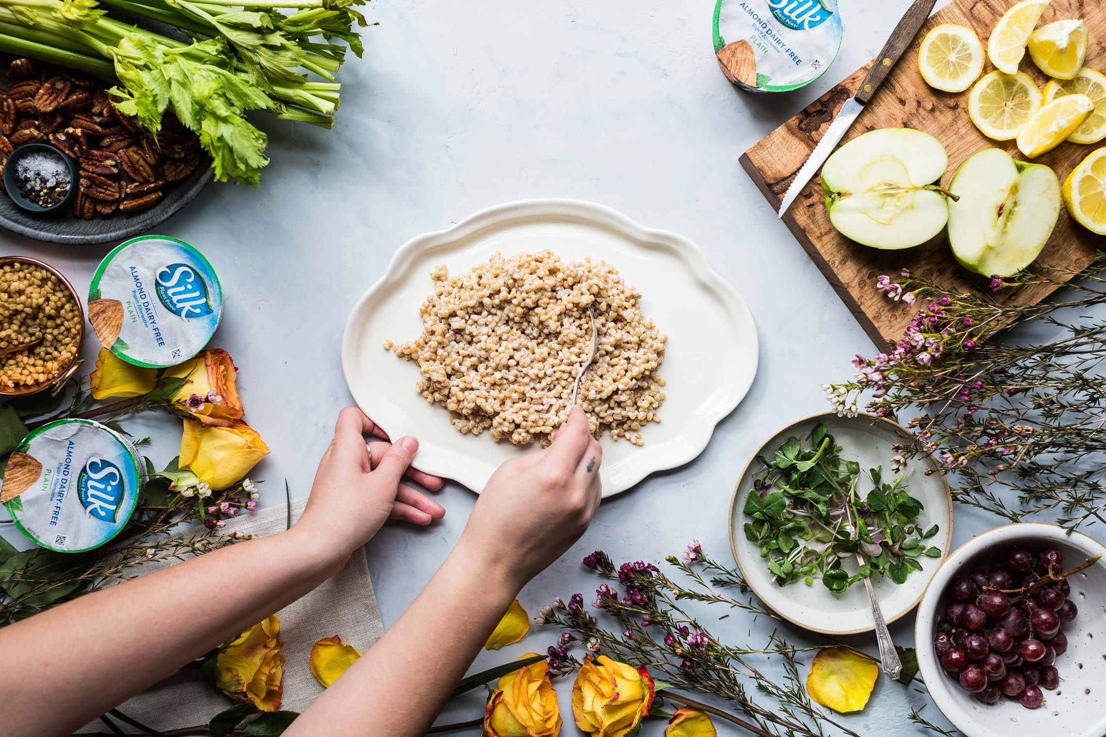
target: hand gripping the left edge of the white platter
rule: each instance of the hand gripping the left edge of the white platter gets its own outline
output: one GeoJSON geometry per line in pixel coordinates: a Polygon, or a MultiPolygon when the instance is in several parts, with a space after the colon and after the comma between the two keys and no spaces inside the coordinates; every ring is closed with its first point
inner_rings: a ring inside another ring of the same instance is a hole
{"type": "Polygon", "coordinates": [[[307,507],[293,530],[311,533],[327,548],[341,552],[341,561],[367,543],[387,519],[429,525],[446,510],[414,486],[437,491],[442,481],[416,471],[411,461],[418,441],[410,436],[393,443],[356,407],[338,413],[334,439],[323,453],[311,487],[307,507]],[[367,445],[365,436],[383,438],[367,445]]]}

